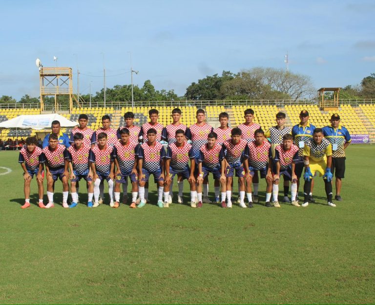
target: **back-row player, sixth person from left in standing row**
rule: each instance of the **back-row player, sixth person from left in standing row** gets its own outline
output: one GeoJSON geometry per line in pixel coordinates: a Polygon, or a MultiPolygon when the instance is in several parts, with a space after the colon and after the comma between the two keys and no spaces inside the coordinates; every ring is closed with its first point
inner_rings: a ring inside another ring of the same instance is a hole
{"type": "MultiPolygon", "coordinates": [[[[172,119],[173,122],[172,124],[167,125],[162,131],[162,139],[166,142],[168,142],[168,145],[171,145],[172,143],[176,142],[176,131],[177,130],[183,130],[184,132],[186,131],[187,127],[186,125],[182,124],[180,122],[181,119],[181,109],[175,108],[172,110],[172,119]]],[[[186,140],[184,136],[184,140],[186,140]]],[[[182,204],[183,199],[182,199],[182,193],[184,191],[184,177],[182,174],[177,174],[177,184],[178,184],[178,197],[177,201],[178,203],[182,204]]],[[[171,180],[171,184],[169,185],[169,199],[168,202],[172,202],[173,198],[173,179],[171,180]]]]}

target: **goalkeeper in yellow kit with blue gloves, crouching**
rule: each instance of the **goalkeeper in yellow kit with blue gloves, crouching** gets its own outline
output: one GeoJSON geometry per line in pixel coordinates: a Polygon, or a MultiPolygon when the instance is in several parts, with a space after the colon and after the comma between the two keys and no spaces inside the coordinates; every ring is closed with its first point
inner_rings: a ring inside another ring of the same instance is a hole
{"type": "Polygon", "coordinates": [[[332,178],[331,163],[332,163],[332,146],[330,142],[323,138],[323,131],[321,128],[315,128],[312,134],[312,139],[309,139],[305,148],[303,149],[305,174],[303,176],[305,185],[303,192],[305,195],[303,207],[309,205],[309,193],[311,189],[312,177],[315,173],[323,176],[328,205],[335,207],[332,203],[332,178]]]}

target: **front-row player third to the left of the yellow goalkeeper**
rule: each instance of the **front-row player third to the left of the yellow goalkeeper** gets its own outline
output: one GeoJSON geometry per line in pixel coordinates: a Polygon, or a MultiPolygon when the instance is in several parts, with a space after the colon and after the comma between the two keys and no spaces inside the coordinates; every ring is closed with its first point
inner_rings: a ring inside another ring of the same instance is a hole
{"type": "MultiPolygon", "coordinates": [[[[225,159],[228,163],[225,174],[227,179],[227,199],[228,199],[228,207],[232,207],[231,202],[231,184],[234,175],[234,170],[236,171],[236,176],[238,177],[238,181],[240,184],[239,193],[240,193],[240,207],[246,208],[246,204],[244,202],[245,199],[245,171],[243,166],[243,158],[244,158],[244,151],[248,145],[246,140],[241,139],[242,131],[239,128],[233,128],[231,132],[231,138],[229,140],[224,141],[223,149],[226,150],[225,159]]],[[[226,207],[225,204],[225,193],[222,191],[222,202],[221,206],[223,208],[226,207]],[[223,200],[224,197],[224,200],[223,200]]]]}

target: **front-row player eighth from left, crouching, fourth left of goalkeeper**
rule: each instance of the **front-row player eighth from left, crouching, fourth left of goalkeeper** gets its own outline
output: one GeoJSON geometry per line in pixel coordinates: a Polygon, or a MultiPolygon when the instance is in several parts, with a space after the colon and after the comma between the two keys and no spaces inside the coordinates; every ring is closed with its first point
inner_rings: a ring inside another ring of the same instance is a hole
{"type": "Polygon", "coordinates": [[[217,134],[215,132],[212,131],[208,133],[207,144],[201,146],[198,157],[196,158],[198,164],[195,170],[198,204],[195,205],[195,201],[191,200],[190,206],[192,208],[201,208],[203,206],[202,185],[208,173],[212,173],[213,178],[220,181],[222,190],[226,189],[226,179],[223,169],[223,167],[225,167],[224,149],[216,144],[216,140],[217,134]]]}

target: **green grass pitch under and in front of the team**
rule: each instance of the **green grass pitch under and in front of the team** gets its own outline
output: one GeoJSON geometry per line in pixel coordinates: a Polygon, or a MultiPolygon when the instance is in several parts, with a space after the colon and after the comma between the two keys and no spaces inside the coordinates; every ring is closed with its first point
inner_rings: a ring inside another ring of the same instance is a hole
{"type": "Polygon", "coordinates": [[[0,303],[374,304],[374,155],[348,148],[336,208],[318,179],[307,208],[48,210],[33,181],[34,204],[21,210],[18,152],[0,152],[12,170],[0,175],[0,303]]]}

